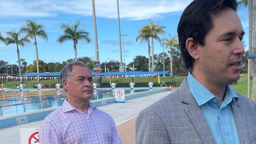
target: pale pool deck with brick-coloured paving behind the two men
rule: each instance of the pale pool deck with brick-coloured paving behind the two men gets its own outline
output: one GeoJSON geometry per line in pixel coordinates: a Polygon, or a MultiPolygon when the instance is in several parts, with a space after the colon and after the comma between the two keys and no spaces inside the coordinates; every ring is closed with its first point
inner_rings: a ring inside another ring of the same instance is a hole
{"type": "MultiPolygon", "coordinates": [[[[139,112],[171,92],[172,91],[163,91],[157,94],[127,100],[125,103],[112,103],[97,108],[113,117],[123,143],[133,144],[135,143],[135,133],[133,132],[135,129],[134,123],[139,112]]],[[[39,120],[0,129],[0,141],[2,144],[20,143],[19,128],[40,127],[42,122],[43,120],[39,120]]]]}

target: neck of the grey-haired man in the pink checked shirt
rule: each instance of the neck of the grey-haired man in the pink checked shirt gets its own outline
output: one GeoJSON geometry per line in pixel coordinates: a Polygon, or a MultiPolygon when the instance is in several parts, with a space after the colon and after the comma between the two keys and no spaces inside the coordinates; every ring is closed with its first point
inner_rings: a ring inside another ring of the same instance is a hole
{"type": "Polygon", "coordinates": [[[76,108],[79,111],[82,111],[85,114],[88,114],[88,109],[89,109],[89,100],[78,100],[73,97],[68,96],[68,102],[70,105],[72,105],[74,108],[76,108]]]}

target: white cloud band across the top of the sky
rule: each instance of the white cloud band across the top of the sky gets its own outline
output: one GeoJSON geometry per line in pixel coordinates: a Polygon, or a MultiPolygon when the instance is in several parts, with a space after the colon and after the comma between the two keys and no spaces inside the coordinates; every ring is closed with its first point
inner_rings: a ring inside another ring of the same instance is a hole
{"type": "MultiPolygon", "coordinates": [[[[141,20],[182,11],[192,0],[119,0],[120,18],[141,20]]],[[[0,18],[92,15],[91,0],[1,0],[0,18]]],[[[96,17],[117,18],[116,0],[96,0],[96,17]]]]}

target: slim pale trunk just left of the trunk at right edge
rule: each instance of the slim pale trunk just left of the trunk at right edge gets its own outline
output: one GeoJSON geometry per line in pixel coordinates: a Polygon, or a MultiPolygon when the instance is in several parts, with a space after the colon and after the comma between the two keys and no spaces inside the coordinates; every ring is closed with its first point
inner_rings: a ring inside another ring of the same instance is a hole
{"type": "MultiPolygon", "coordinates": [[[[253,18],[253,0],[248,0],[248,16],[249,16],[249,55],[252,55],[252,18],[253,18]]],[[[252,69],[253,63],[250,63],[252,69]]],[[[253,76],[253,70],[250,71],[251,76],[253,76]]]]}

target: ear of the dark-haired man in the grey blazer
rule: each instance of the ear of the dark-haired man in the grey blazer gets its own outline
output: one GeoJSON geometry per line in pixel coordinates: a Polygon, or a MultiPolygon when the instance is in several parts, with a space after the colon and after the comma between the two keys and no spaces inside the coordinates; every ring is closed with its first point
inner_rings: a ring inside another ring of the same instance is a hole
{"type": "Polygon", "coordinates": [[[191,57],[193,57],[194,59],[199,58],[198,43],[196,43],[192,37],[189,37],[187,39],[186,48],[191,57]]]}

